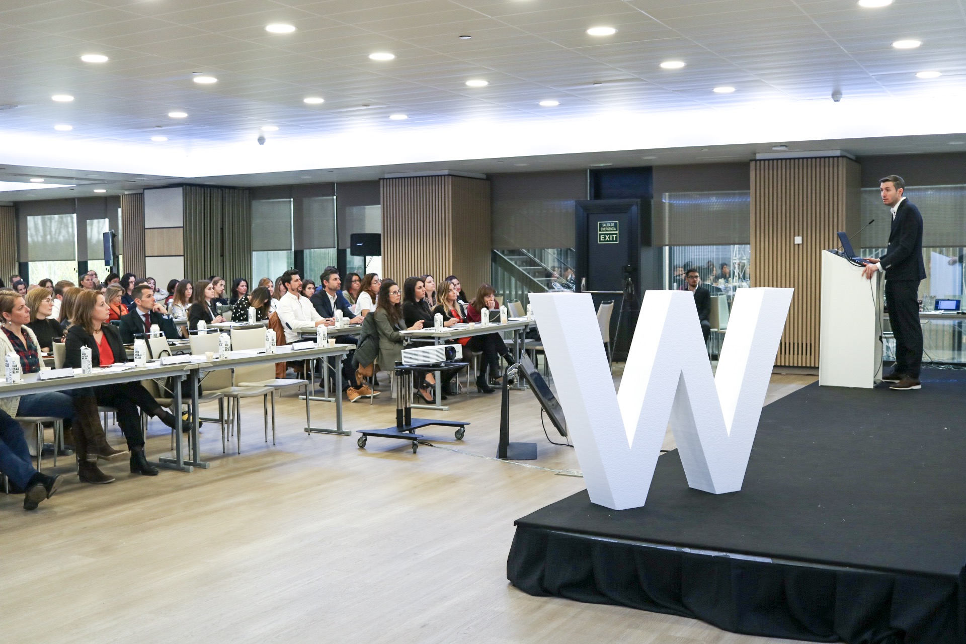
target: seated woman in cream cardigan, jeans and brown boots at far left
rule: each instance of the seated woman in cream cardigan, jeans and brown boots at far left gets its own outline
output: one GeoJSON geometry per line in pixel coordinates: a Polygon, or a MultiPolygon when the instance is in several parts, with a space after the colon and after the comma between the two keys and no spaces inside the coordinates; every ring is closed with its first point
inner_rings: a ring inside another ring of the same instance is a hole
{"type": "MultiPolygon", "coordinates": [[[[30,310],[23,297],[0,295],[0,318],[4,322],[3,333],[0,333],[0,351],[4,355],[15,353],[24,374],[41,371],[41,348],[37,336],[25,323],[30,320],[30,310]]],[[[82,482],[110,483],[114,479],[98,469],[97,460],[109,460],[127,454],[115,450],[104,438],[98,403],[90,388],[69,389],[66,393],[53,391],[2,398],[0,408],[12,416],[49,416],[62,419],[64,442],[74,448],[82,482]]]]}

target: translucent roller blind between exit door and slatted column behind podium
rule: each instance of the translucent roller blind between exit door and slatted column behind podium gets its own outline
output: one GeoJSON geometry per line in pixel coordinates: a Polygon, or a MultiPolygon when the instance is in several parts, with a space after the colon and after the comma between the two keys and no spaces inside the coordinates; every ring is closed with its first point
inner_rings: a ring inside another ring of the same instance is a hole
{"type": "Polygon", "coordinates": [[[750,243],[751,204],[748,190],[665,192],[654,212],[654,245],[750,243]]]}

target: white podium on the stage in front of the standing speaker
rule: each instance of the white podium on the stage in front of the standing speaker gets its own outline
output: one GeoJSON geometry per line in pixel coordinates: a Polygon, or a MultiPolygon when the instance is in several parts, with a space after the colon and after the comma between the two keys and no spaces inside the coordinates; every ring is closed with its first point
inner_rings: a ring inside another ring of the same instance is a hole
{"type": "Polygon", "coordinates": [[[832,251],[822,251],[818,384],[871,388],[882,366],[882,271],[868,280],[832,251]]]}

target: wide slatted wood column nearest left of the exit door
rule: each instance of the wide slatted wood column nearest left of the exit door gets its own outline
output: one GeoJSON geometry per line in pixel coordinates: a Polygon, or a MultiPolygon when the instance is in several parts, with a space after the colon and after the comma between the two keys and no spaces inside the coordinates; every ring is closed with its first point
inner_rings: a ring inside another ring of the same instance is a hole
{"type": "Polygon", "coordinates": [[[405,177],[384,179],[380,189],[385,277],[401,284],[411,275],[456,274],[467,294],[490,281],[490,182],[405,177]]]}

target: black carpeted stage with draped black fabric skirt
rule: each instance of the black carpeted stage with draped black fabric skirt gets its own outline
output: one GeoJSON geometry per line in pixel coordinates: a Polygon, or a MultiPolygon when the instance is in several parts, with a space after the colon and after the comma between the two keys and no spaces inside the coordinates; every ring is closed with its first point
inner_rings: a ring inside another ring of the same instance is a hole
{"type": "Polygon", "coordinates": [[[643,508],[582,491],[516,525],[507,577],[530,595],[752,635],[966,642],[966,372],[766,406],[740,492],[691,490],[674,451],[643,508]]]}

